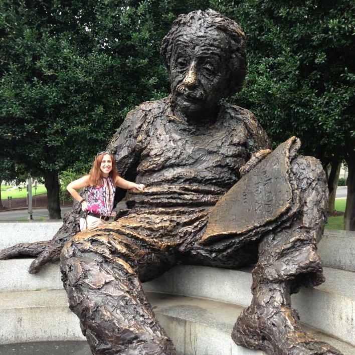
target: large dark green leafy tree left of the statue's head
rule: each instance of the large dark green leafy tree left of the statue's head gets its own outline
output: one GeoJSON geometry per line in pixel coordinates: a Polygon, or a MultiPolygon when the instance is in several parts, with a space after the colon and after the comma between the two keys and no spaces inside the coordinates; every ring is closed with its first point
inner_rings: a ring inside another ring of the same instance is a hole
{"type": "Polygon", "coordinates": [[[0,143],[44,177],[92,160],[135,105],[168,93],[162,37],[202,1],[0,0],[0,143]]]}

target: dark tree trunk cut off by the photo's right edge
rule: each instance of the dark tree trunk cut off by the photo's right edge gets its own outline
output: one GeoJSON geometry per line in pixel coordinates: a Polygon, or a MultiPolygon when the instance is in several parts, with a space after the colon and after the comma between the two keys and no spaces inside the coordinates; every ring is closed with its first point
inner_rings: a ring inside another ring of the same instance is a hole
{"type": "Polygon", "coordinates": [[[349,156],[346,159],[348,167],[347,197],[344,215],[344,229],[355,231],[355,138],[349,142],[349,156]]]}

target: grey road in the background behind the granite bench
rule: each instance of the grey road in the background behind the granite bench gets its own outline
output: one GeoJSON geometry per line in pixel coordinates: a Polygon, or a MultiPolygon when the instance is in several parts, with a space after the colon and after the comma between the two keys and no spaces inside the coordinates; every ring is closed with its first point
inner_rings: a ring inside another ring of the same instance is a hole
{"type": "MultiPolygon", "coordinates": [[[[346,198],[347,187],[339,186],[336,190],[336,199],[346,198]]],[[[118,209],[125,208],[126,205],[124,202],[120,202],[117,205],[118,209]]],[[[62,217],[64,214],[71,210],[71,207],[61,207],[62,217]]],[[[29,219],[29,214],[27,210],[16,210],[16,211],[5,211],[0,212],[0,222],[5,221],[26,221],[29,219]]],[[[33,219],[34,220],[47,220],[48,219],[48,210],[44,208],[34,209],[33,210],[33,219]]]]}

